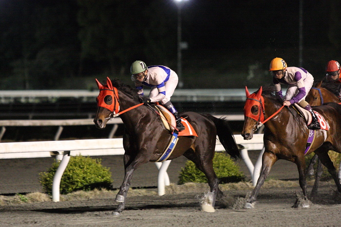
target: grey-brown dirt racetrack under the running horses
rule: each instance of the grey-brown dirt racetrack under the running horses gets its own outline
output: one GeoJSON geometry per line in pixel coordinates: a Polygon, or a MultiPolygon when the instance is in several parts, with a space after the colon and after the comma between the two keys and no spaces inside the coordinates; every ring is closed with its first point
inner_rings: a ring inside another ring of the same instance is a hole
{"type": "MultiPolygon", "coordinates": [[[[256,152],[251,153],[252,160],[256,157],[256,152]]],[[[102,164],[111,168],[114,187],[118,188],[123,179],[122,157],[101,158],[102,164]]],[[[38,173],[45,171],[52,161],[52,158],[0,160],[0,194],[41,192],[38,173]]],[[[168,174],[172,183],[177,182],[185,161],[186,158],[180,157],[171,162],[168,174]]],[[[249,177],[243,162],[239,163],[249,177]]],[[[226,199],[217,202],[216,212],[206,213],[199,205],[205,190],[189,187],[187,191],[163,196],[128,194],[126,210],[120,216],[111,214],[117,204],[114,197],[4,205],[0,206],[0,226],[341,226],[341,202],[334,197],[336,186],[333,183],[323,183],[310,208],[291,208],[296,193],[301,192],[297,176],[294,164],[278,161],[269,178],[293,180],[296,186],[262,188],[256,208],[252,210],[233,209],[237,198],[245,197],[250,189],[224,191],[226,199]]],[[[148,187],[147,191],[155,192],[156,183],[156,167],[148,163],[135,171],[132,187],[148,187]]]]}

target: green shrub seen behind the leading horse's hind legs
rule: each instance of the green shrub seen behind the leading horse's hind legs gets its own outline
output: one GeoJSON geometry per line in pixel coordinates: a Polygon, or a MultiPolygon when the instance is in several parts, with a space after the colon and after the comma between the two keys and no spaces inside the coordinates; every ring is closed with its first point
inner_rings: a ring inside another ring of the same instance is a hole
{"type": "MultiPolygon", "coordinates": [[[[213,158],[213,169],[218,176],[220,183],[239,182],[245,179],[245,175],[239,171],[240,167],[225,153],[215,153],[213,158]]],[[[192,161],[187,161],[185,167],[181,168],[178,184],[187,182],[208,182],[204,173],[196,168],[192,161]]]]}

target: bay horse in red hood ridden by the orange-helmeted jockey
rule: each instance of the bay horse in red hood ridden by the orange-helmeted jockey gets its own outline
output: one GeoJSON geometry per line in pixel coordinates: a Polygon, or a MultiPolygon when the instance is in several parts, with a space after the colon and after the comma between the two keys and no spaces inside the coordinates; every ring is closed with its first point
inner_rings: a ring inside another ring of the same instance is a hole
{"type": "MultiPolygon", "coordinates": [[[[315,130],[315,140],[310,145],[309,152],[305,153],[309,129],[306,121],[299,117],[292,108],[283,108],[284,105],[275,98],[274,87],[260,87],[250,94],[246,87],[246,104],[244,106],[245,122],[242,130],[244,140],[251,140],[253,133],[263,123],[265,152],[262,160],[262,170],[257,184],[250,197],[247,199],[245,208],[254,208],[254,202],[260,191],[271,167],[279,159],[294,162],[299,172],[299,183],[303,191],[303,207],[309,207],[304,155],[315,152],[322,164],[327,167],[332,175],[338,191],[341,192],[341,184],[337,178],[333,162],[328,156],[328,151],[333,150],[341,153],[341,105],[328,103],[316,106],[317,111],[324,117],[325,125],[329,124],[329,130],[315,130]]],[[[293,207],[298,207],[300,201],[296,201],[293,207]]]]}

